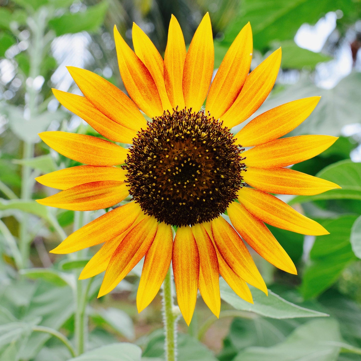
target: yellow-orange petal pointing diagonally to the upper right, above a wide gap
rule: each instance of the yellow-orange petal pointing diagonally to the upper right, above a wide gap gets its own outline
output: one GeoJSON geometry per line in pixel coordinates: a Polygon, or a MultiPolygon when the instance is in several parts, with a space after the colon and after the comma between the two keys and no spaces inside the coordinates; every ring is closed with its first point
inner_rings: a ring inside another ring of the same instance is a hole
{"type": "Polygon", "coordinates": [[[276,81],[281,55],[279,48],[249,73],[237,99],[221,117],[225,126],[232,128],[244,122],[265,101],[276,81]]]}

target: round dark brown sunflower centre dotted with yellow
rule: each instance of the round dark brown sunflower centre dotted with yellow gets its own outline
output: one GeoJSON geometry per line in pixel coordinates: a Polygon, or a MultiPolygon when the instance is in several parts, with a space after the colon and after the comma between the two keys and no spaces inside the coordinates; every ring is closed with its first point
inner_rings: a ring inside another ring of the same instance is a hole
{"type": "Polygon", "coordinates": [[[242,187],[244,149],[234,141],[222,122],[204,112],[164,112],[133,139],[124,166],[129,192],[158,221],[210,221],[242,187]]]}

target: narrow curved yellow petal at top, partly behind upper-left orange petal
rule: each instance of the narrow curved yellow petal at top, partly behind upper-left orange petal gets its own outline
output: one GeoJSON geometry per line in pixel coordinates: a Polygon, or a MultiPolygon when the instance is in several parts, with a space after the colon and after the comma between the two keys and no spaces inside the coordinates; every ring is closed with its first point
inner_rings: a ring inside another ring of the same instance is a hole
{"type": "Polygon", "coordinates": [[[164,83],[164,61],[151,39],[138,25],[133,23],[132,38],[135,54],[143,61],[143,64],[151,73],[156,83],[164,110],[171,110],[172,106],[168,99],[164,83]]]}

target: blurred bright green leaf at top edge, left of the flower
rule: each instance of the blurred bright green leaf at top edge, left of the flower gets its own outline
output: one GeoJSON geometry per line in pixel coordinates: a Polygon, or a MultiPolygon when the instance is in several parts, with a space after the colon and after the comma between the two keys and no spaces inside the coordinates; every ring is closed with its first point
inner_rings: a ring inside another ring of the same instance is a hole
{"type": "Polygon", "coordinates": [[[90,6],[85,12],[65,13],[59,18],[49,21],[49,27],[56,32],[56,36],[81,31],[97,32],[104,21],[108,2],[90,6]]]}

